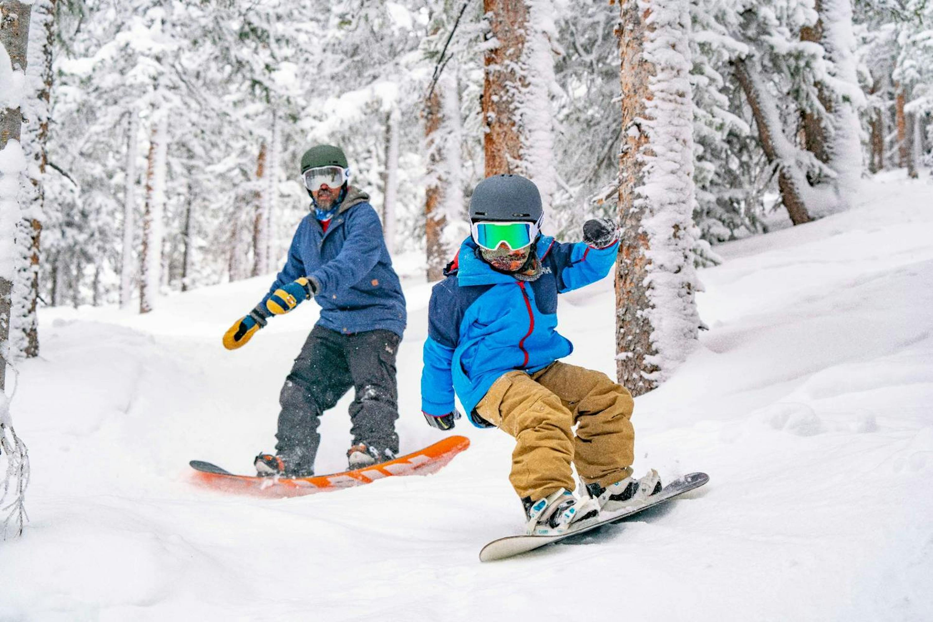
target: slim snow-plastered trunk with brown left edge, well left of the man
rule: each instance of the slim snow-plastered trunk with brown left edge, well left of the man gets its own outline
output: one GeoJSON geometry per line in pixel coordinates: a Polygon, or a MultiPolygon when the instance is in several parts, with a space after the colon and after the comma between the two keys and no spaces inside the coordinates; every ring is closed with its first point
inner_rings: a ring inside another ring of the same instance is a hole
{"type": "Polygon", "coordinates": [[[139,312],[147,313],[159,296],[162,265],[162,211],[165,203],[165,156],[168,148],[168,115],[153,119],[146,159],[146,208],[143,214],[143,252],[140,262],[139,312]]]}

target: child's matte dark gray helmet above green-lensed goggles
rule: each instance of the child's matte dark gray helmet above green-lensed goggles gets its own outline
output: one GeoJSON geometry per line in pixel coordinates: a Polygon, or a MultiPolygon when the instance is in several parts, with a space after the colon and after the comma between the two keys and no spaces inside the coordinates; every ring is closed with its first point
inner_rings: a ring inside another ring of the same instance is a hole
{"type": "Polygon", "coordinates": [[[541,193],[535,182],[522,175],[493,175],[483,179],[469,200],[469,219],[527,221],[541,217],[541,193]]]}

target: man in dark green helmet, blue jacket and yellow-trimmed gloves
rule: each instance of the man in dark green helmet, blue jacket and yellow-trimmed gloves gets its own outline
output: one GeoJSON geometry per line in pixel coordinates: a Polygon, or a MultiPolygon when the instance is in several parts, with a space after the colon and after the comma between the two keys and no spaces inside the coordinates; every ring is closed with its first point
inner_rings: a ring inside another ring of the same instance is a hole
{"type": "Polygon", "coordinates": [[[279,396],[275,453],[260,453],[262,476],[308,477],[320,443],[321,414],[351,387],[350,468],[392,459],[398,452],[396,354],[405,329],[405,297],[369,195],[349,185],[343,151],[317,145],[301,157],[311,214],[295,232],[285,268],[253,311],[224,335],[242,347],[269,317],[314,297],[321,316],[279,396]]]}

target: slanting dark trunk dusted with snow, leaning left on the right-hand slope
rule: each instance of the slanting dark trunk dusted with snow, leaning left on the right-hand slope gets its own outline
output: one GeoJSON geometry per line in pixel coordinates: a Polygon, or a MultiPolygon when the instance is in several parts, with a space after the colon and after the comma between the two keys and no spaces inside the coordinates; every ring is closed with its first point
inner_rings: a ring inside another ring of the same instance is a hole
{"type": "Polygon", "coordinates": [[[800,174],[790,157],[791,154],[787,153],[791,145],[784,135],[784,130],[779,127],[780,117],[774,108],[773,101],[766,93],[760,92],[758,81],[752,75],[753,70],[745,59],[733,61],[732,66],[735,70],[735,77],[745,92],[748,105],[752,109],[752,116],[755,117],[761,150],[764,151],[768,161],[777,167],[777,186],[781,192],[781,200],[787,208],[787,214],[790,215],[790,221],[794,225],[808,223],[811,220],[810,214],[801,196],[806,180],[803,179],[803,175],[800,174]]]}

